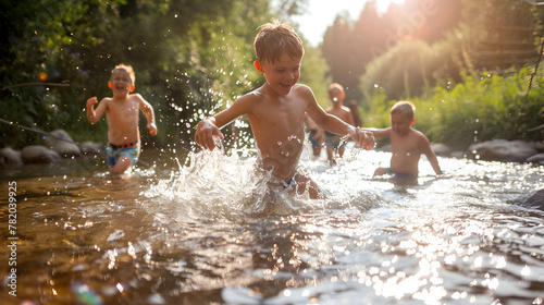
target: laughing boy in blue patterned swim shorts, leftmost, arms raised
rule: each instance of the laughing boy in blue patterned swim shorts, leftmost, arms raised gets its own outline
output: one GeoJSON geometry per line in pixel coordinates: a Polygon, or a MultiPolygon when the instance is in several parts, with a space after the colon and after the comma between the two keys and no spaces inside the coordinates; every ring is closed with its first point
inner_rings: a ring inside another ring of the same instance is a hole
{"type": "Polygon", "coordinates": [[[95,124],[106,112],[108,120],[108,146],[106,154],[110,173],[121,174],[136,163],[139,157],[139,110],[147,119],[147,127],[151,135],[157,135],[153,108],[139,94],[131,94],[135,83],[134,70],[129,65],[120,64],[111,71],[108,86],[113,97],[103,98],[98,107],[97,97],[87,100],[87,120],[95,124]]]}

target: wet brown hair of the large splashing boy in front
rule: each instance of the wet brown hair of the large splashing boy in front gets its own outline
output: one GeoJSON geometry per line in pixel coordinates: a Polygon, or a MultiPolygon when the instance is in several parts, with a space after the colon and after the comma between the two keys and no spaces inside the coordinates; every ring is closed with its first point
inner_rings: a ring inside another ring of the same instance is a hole
{"type": "Polygon", "coordinates": [[[277,20],[259,27],[254,47],[260,62],[274,63],[283,53],[287,53],[292,59],[301,59],[305,53],[302,39],[295,29],[277,20]]]}

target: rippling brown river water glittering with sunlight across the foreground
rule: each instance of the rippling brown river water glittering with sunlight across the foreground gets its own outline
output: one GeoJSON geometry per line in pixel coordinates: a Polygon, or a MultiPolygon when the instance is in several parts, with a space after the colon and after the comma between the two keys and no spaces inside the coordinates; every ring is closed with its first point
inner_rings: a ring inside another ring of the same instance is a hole
{"type": "Polygon", "coordinates": [[[403,187],[371,178],[387,160],[304,158],[326,200],[270,190],[254,158],[219,152],[125,178],[73,163],[5,171],[2,304],[542,303],[544,212],[520,202],[544,187],[543,167],[440,159],[435,178],[422,160],[419,185],[403,187]]]}

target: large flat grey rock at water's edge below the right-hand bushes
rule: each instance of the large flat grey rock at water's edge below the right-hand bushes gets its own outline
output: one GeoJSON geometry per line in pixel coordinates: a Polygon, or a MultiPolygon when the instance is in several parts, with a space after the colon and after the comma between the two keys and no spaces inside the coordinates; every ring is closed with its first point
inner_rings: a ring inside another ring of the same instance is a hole
{"type": "Polygon", "coordinates": [[[469,151],[481,160],[524,162],[537,154],[534,143],[524,141],[492,139],[469,147],[469,151]]]}

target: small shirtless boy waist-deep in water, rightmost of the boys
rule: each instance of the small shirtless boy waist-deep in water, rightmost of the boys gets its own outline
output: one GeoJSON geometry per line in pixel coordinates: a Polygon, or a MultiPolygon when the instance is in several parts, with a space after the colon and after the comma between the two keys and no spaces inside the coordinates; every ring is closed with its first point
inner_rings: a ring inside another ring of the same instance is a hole
{"type": "Polygon", "coordinates": [[[436,174],[442,174],[436,155],[431,149],[429,139],[424,134],[411,125],[416,122],[413,113],[416,106],[409,101],[399,101],[391,109],[391,126],[382,130],[364,129],[372,132],[375,137],[391,137],[391,166],[378,168],[374,175],[394,174],[397,176],[418,176],[418,163],[421,154],[431,162],[436,174]]]}

